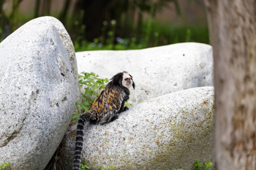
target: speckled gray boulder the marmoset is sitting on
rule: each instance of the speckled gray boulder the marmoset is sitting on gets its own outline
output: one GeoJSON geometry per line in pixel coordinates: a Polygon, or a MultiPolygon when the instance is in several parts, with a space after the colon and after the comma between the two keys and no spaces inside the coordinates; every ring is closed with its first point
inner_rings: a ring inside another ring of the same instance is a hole
{"type": "MultiPolygon", "coordinates": [[[[191,170],[196,159],[214,160],[214,89],[172,92],[129,107],[118,119],[85,129],[82,162],[92,170],[191,170]]],[[[67,136],[66,170],[71,170],[75,126],[67,136]]]]}

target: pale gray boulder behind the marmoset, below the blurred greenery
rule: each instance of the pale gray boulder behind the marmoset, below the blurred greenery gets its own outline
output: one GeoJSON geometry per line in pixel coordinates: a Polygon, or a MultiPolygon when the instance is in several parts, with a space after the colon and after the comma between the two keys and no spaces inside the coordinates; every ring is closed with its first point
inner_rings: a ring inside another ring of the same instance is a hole
{"type": "Polygon", "coordinates": [[[76,52],[78,72],[102,78],[128,71],[136,83],[128,102],[192,87],[213,86],[212,47],[187,42],[143,50],[76,52]]]}

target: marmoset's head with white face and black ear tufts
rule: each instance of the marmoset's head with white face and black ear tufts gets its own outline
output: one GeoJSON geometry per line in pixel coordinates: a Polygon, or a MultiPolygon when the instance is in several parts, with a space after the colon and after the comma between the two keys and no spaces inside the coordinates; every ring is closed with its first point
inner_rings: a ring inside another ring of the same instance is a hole
{"type": "Polygon", "coordinates": [[[119,72],[118,74],[114,75],[110,80],[112,80],[112,83],[115,85],[119,84],[121,87],[126,87],[128,89],[133,87],[133,89],[135,89],[133,76],[131,76],[126,71],[119,72]]]}

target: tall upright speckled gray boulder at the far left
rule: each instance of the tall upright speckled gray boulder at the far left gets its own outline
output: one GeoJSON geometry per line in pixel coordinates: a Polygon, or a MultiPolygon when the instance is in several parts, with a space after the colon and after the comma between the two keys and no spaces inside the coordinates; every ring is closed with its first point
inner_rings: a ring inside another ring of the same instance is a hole
{"type": "Polygon", "coordinates": [[[0,43],[0,165],[43,170],[67,130],[76,68],[65,32],[58,20],[37,18],[0,43]]]}

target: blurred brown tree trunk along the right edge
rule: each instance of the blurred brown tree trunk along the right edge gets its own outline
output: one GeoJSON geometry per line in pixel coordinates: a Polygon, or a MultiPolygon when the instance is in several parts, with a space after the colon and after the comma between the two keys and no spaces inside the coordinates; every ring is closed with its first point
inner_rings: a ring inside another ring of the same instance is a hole
{"type": "Polygon", "coordinates": [[[205,0],[218,170],[256,170],[256,0],[205,0]]]}

